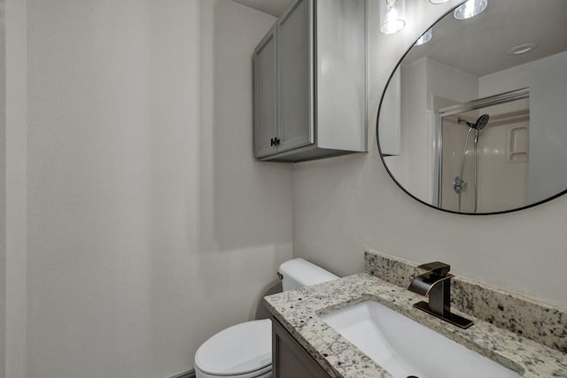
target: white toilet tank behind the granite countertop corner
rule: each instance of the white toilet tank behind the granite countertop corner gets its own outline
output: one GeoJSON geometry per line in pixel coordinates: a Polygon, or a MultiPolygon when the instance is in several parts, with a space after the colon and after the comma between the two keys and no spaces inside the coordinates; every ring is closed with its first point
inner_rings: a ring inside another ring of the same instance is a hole
{"type": "Polygon", "coordinates": [[[303,258],[293,258],[285,261],[280,266],[280,274],[282,275],[283,291],[338,279],[337,275],[303,258]]]}

